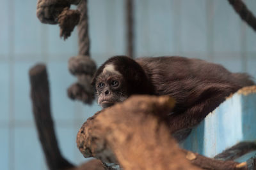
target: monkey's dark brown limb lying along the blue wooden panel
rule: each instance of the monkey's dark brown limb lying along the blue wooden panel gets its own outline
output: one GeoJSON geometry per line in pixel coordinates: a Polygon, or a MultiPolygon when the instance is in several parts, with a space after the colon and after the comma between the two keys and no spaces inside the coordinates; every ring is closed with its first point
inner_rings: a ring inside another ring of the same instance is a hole
{"type": "Polygon", "coordinates": [[[186,101],[188,104],[186,110],[181,113],[174,113],[168,118],[171,132],[195,127],[225,101],[227,96],[239,89],[239,86],[228,83],[209,83],[198,86],[189,95],[186,101]]]}

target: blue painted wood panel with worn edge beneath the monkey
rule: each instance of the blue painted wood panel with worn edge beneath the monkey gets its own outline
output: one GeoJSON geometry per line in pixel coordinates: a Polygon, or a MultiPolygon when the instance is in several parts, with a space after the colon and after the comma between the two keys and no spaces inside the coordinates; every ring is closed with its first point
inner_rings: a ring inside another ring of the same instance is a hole
{"type": "Polygon", "coordinates": [[[209,113],[181,146],[214,157],[237,143],[255,142],[255,103],[256,90],[246,95],[237,92],[209,113]]]}

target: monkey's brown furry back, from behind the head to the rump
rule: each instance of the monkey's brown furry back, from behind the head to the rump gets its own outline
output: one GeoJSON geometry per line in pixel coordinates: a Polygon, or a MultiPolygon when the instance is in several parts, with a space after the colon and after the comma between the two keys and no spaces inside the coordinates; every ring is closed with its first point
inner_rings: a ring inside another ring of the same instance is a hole
{"type": "Polygon", "coordinates": [[[231,73],[220,64],[200,59],[148,57],[136,61],[152,81],[155,93],[174,97],[180,111],[208,97],[219,99],[218,106],[225,96],[241,87],[254,85],[247,74],[231,73]]]}

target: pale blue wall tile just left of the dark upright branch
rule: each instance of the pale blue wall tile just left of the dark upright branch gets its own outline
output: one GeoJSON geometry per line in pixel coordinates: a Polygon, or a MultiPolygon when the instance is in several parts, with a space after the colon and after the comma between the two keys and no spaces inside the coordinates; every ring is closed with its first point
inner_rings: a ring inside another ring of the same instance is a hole
{"type": "Polygon", "coordinates": [[[14,65],[14,112],[16,120],[33,120],[30,99],[29,69],[35,62],[16,61],[14,65]]]}

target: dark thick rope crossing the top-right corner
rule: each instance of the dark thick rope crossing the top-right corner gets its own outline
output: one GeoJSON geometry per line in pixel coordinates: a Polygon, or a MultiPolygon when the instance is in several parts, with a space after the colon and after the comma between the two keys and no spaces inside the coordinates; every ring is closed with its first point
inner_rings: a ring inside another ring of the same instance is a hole
{"type": "Polygon", "coordinates": [[[248,10],[246,5],[241,0],[228,0],[228,2],[233,6],[234,10],[241,17],[244,22],[252,27],[256,31],[256,18],[253,13],[248,10]]]}

